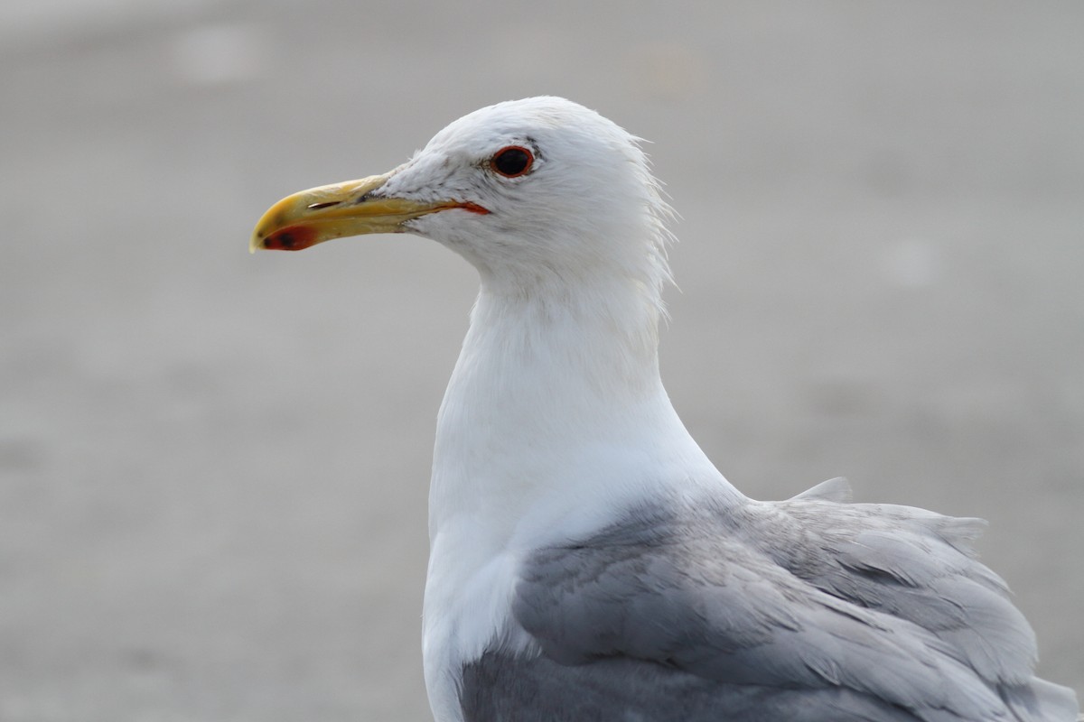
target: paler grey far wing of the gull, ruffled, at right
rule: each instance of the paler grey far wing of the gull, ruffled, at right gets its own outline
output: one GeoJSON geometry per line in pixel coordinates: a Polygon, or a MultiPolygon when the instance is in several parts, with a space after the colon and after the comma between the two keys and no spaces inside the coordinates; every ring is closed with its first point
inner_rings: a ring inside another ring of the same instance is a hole
{"type": "Polygon", "coordinates": [[[931,632],[1020,720],[1074,720],[1071,690],[1034,677],[1035,635],[1005,582],[971,548],[985,526],[893,504],[840,504],[818,490],[757,503],[743,520],[758,548],[818,589],[931,632]],[[769,538],[771,543],[769,543],[769,538]]]}

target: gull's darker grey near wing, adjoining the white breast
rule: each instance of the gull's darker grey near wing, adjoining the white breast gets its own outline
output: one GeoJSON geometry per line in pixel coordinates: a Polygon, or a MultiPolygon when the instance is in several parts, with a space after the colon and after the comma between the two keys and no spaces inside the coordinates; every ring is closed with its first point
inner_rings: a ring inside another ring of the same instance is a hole
{"type": "Polygon", "coordinates": [[[792,540],[749,536],[793,521],[764,509],[644,509],[534,552],[513,609],[541,654],[468,666],[465,718],[1073,719],[1019,714],[951,640],[834,592],[828,567],[799,563],[817,548],[765,554],[792,540]]]}

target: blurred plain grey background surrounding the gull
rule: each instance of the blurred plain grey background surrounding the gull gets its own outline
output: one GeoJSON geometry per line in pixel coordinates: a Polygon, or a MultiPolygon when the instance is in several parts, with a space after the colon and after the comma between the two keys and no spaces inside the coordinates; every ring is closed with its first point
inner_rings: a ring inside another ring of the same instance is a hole
{"type": "Polygon", "coordinates": [[[1079,2],[3,2],[0,720],[429,719],[475,273],[248,235],[542,93],[654,142],[663,371],[723,473],[989,518],[1084,690],[1082,31],[1079,2]]]}

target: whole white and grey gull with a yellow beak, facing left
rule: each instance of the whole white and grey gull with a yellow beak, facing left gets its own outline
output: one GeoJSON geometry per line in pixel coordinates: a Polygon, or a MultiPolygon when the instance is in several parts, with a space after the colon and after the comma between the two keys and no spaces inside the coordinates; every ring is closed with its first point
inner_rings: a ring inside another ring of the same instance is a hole
{"type": "Polygon", "coordinates": [[[670,216],[581,105],[476,110],[250,247],[412,233],[478,271],[437,420],[423,652],[437,722],[1076,720],[976,518],[737,490],[659,377],[670,216]]]}

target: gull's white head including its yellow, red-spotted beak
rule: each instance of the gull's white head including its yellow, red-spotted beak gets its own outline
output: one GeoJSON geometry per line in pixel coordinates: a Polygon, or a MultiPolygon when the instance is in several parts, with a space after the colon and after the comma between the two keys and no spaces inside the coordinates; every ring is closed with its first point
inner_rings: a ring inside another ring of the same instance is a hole
{"type": "Polygon", "coordinates": [[[253,248],[410,232],[470,261],[498,294],[608,280],[657,302],[668,214],[637,139],[570,101],[531,97],[460,118],[389,173],[280,201],[253,248]]]}

